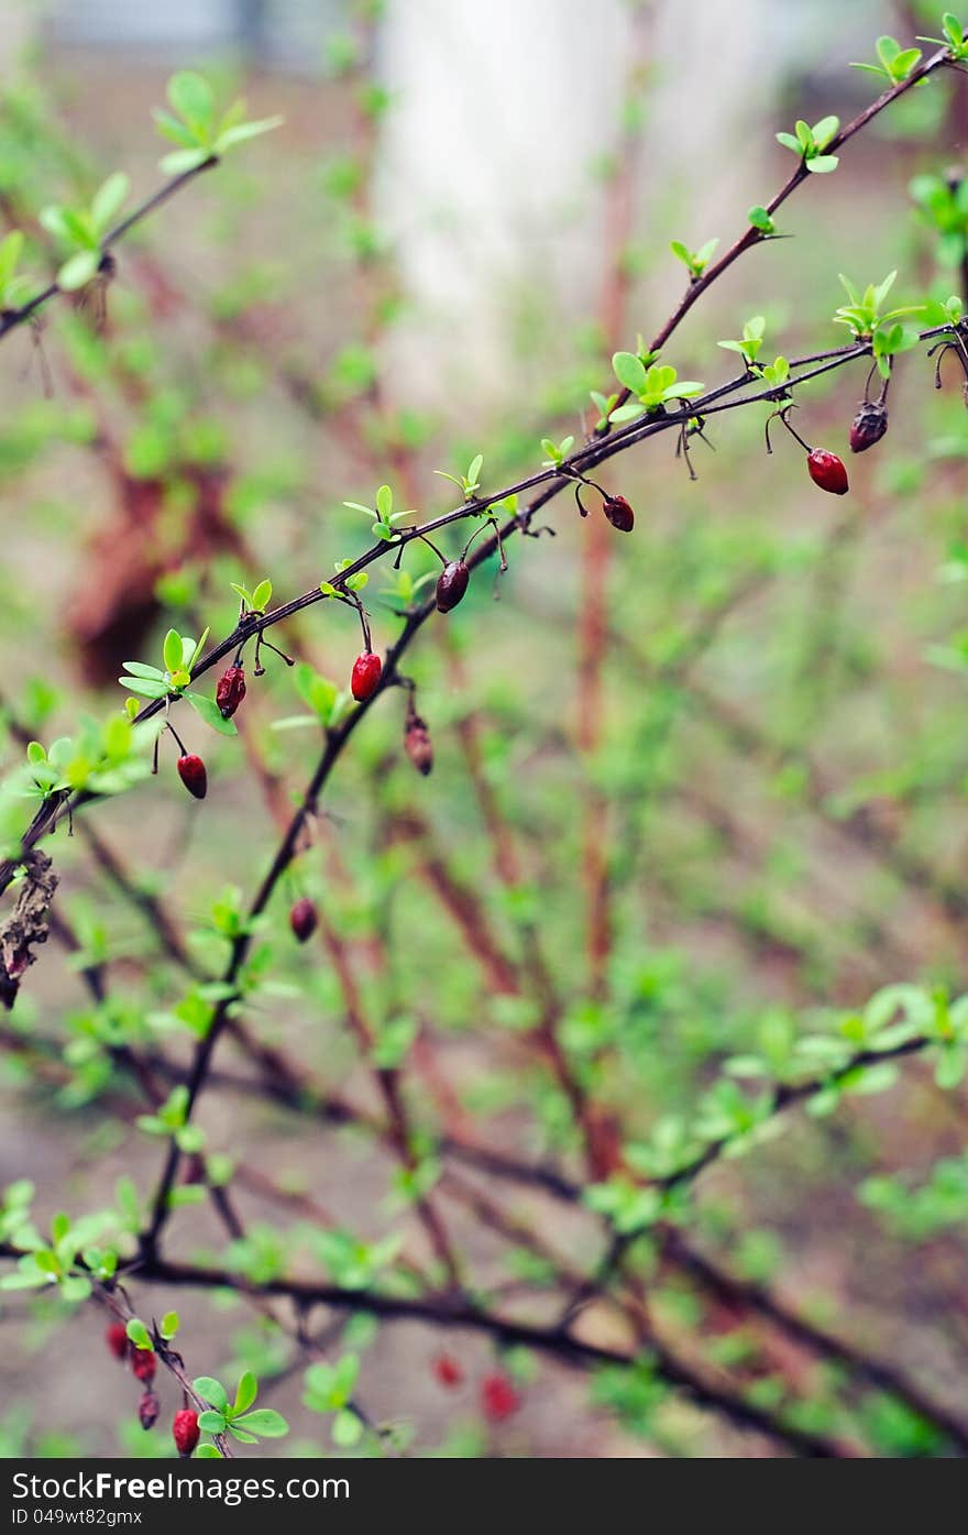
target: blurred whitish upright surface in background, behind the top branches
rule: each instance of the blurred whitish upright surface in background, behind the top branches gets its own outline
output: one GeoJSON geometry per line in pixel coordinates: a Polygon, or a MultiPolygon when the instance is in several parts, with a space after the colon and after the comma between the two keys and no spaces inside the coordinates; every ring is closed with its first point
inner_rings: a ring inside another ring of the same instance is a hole
{"type": "MultiPolygon", "coordinates": [[[[758,66],[790,28],[776,0],[646,12],[657,83],[637,224],[667,252],[673,235],[700,244],[742,226],[762,187],[747,137],[769,106],[758,66]]],[[[442,404],[471,381],[506,393],[508,368],[528,367],[514,335],[529,290],[565,324],[594,313],[611,252],[592,166],[617,141],[632,25],[626,0],[390,0],[380,60],[397,101],[377,193],[414,304],[391,342],[402,393],[442,404]]],[[[681,287],[683,269],[661,266],[643,330],[681,287]]]]}

